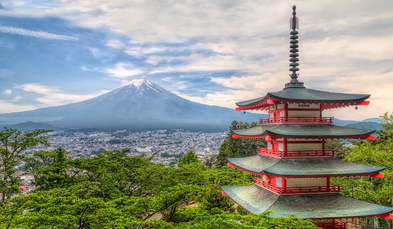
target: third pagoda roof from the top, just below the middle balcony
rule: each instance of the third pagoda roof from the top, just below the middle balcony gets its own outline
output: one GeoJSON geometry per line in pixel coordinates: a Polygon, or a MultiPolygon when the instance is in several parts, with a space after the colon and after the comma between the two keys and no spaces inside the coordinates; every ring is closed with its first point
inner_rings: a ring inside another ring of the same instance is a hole
{"type": "Polygon", "coordinates": [[[376,174],[385,169],[335,158],[278,159],[255,155],[227,159],[232,165],[251,173],[280,177],[357,176],[376,174]]]}

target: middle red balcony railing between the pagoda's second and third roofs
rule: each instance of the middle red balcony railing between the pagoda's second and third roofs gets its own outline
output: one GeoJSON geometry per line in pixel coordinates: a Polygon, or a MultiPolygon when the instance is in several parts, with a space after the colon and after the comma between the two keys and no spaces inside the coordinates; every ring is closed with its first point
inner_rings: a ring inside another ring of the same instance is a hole
{"type": "Polygon", "coordinates": [[[263,156],[271,157],[334,157],[335,151],[333,150],[312,150],[312,151],[278,151],[268,150],[266,148],[258,148],[258,153],[263,156]]]}

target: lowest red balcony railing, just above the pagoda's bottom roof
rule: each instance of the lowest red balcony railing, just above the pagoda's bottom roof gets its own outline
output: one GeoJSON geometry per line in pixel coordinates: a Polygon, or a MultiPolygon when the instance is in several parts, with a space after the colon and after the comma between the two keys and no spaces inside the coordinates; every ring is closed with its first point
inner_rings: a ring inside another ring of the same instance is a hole
{"type": "Polygon", "coordinates": [[[309,193],[332,194],[332,193],[339,193],[341,191],[341,187],[334,184],[330,184],[330,186],[315,186],[315,187],[278,187],[260,178],[254,178],[254,182],[257,186],[280,195],[309,194],[309,193]]]}

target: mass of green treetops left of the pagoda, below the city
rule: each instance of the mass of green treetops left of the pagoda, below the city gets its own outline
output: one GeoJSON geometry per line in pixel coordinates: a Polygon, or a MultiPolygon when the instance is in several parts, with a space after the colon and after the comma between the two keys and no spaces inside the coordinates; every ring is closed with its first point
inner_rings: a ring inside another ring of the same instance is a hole
{"type": "MultiPolygon", "coordinates": [[[[38,133],[43,132],[37,131],[32,140],[40,140],[24,149],[47,144],[38,133]]],[[[39,187],[3,202],[0,228],[315,228],[311,221],[294,216],[272,219],[267,213],[235,213],[234,203],[221,195],[221,186],[250,185],[253,177],[233,167],[211,169],[193,152],[181,158],[179,168],[152,163],[152,157],[144,154],[127,153],[105,151],[72,160],[58,148],[22,157],[20,162],[26,162],[26,172],[34,174],[39,187]],[[190,203],[197,206],[189,207],[190,203]]]]}

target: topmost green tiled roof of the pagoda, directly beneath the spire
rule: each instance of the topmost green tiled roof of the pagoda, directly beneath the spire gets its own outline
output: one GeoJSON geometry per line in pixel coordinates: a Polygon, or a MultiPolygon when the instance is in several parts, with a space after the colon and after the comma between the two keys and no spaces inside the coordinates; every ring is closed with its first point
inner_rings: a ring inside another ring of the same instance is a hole
{"type": "Polygon", "coordinates": [[[243,102],[236,102],[236,105],[240,107],[250,106],[259,102],[263,102],[269,97],[278,100],[299,102],[354,102],[366,100],[370,97],[370,95],[317,91],[308,88],[286,88],[279,92],[269,92],[264,97],[243,102]]]}

